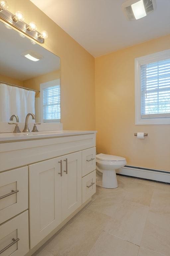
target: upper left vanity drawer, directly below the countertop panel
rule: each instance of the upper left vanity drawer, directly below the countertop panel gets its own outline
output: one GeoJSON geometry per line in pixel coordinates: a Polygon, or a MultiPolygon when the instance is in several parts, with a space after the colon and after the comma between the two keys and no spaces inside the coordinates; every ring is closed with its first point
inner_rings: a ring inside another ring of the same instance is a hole
{"type": "Polygon", "coordinates": [[[0,223],[28,209],[28,166],[0,173],[0,223]]]}

